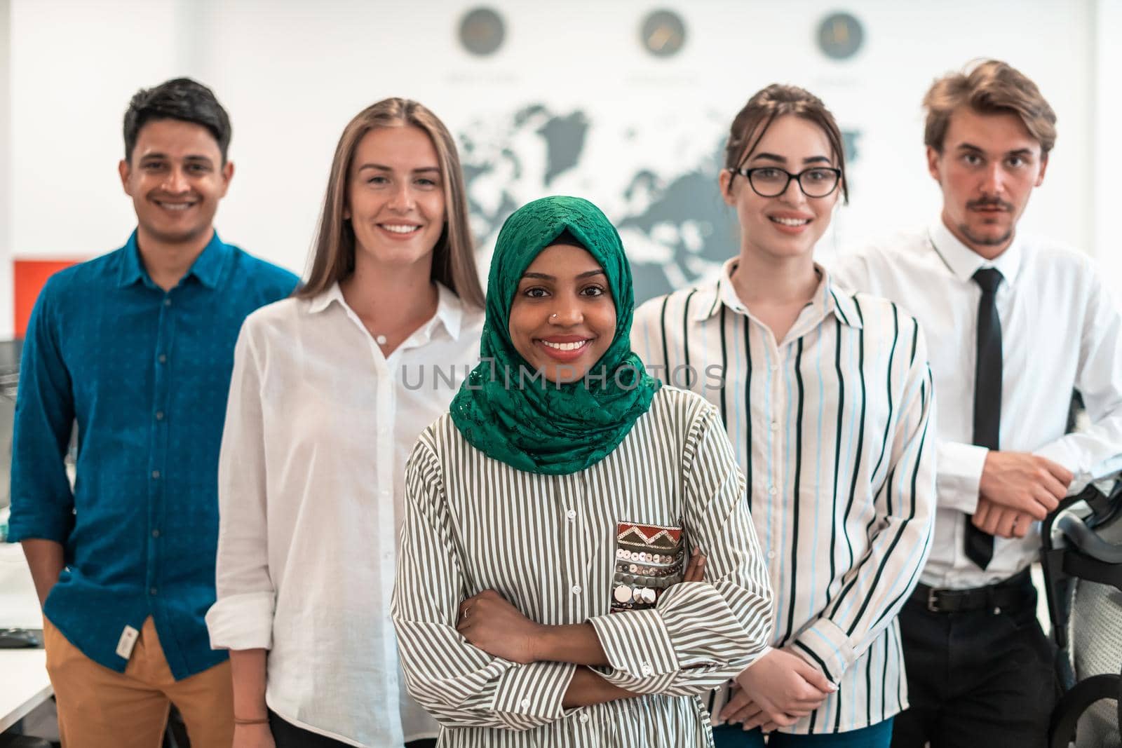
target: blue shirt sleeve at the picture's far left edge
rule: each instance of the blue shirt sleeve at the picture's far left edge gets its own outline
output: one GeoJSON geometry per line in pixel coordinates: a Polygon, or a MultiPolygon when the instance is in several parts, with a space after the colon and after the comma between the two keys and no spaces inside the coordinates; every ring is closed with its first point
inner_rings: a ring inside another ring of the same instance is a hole
{"type": "Polygon", "coordinates": [[[65,543],[74,518],[74,495],[63,461],[74,428],[74,396],[63,360],[52,299],[55,284],[39,294],[28,321],[20,360],[11,455],[9,541],[65,543]]]}

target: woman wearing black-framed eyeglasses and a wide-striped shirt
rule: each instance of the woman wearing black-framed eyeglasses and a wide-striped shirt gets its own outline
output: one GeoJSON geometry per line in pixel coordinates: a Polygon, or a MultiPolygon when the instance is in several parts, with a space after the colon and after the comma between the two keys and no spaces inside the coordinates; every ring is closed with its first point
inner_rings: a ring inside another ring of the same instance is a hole
{"type": "Polygon", "coordinates": [[[775,593],[770,649],[714,695],[716,745],[763,746],[775,731],[771,748],[886,747],[908,705],[895,617],[935,508],[923,335],[813,260],[848,197],[842,135],[819,99],[760,91],[725,159],[739,252],[716,281],[644,304],[632,331],[649,367],[718,407],[775,593]]]}

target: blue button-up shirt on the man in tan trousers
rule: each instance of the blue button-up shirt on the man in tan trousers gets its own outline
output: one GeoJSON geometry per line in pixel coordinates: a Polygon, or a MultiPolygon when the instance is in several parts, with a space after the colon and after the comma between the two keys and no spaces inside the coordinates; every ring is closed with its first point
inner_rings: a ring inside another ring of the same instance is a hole
{"type": "Polygon", "coordinates": [[[246,315],[296,276],[218,233],[169,292],[125,247],[47,281],[24,342],[12,445],[12,541],[63,544],[47,618],[123,672],[126,626],[151,616],[176,680],[226,658],[214,602],[218,453],[246,315]],[[73,491],[63,464],[77,424],[73,491]]]}

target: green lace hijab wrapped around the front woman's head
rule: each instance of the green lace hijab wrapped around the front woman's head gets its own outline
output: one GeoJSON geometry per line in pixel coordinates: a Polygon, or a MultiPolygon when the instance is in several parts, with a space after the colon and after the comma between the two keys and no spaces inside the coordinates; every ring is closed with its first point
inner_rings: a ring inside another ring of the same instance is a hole
{"type": "Polygon", "coordinates": [[[543,197],[503,224],[487,284],[481,362],[452,399],[456,427],[488,456],[526,472],[567,474],[611,453],[651,407],[660,382],[631,350],[631,266],[615,227],[580,197],[543,197]],[[522,275],[568,231],[604,268],[616,304],[611,345],[585,378],[555,384],[533,373],[511,342],[511,305],[522,275]],[[589,376],[591,375],[591,376],[589,376]]]}

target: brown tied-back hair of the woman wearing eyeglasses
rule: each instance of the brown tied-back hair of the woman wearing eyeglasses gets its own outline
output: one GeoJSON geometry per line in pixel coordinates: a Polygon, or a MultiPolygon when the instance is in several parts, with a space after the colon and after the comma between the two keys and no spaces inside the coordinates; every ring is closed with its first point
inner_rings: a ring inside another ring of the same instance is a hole
{"type": "MultiPolygon", "coordinates": [[[[838,168],[842,169],[842,195],[848,203],[849,186],[845,177],[842,130],[822,100],[799,86],[772,83],[748,99],[748,103],[744,104],[744,109],[733,119],[733,127],[729,128],[728,142],[725,145],[725,168],[739,168],[752,156],[752,151],[760,145],[772,122],[784,114],[794,114],[813,122],[826,133],[826,139],[830,141],[830,150],[834,151],[831,156],[837,159],[838,168]]],[[[728,181],[729,191],[736,176],[734,170],[728,181]]]]}

